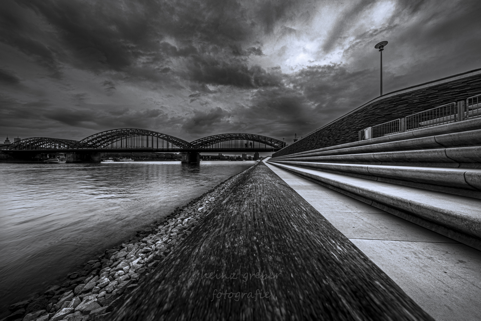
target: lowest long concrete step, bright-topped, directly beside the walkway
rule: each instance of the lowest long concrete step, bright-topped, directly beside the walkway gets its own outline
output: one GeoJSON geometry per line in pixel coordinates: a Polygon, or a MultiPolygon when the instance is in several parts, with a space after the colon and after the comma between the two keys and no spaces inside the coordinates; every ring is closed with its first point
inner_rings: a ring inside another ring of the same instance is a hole
{"type": "Polygon", "coordinates": [[[481,200],[268,162],[481,250],[481,200]]]}

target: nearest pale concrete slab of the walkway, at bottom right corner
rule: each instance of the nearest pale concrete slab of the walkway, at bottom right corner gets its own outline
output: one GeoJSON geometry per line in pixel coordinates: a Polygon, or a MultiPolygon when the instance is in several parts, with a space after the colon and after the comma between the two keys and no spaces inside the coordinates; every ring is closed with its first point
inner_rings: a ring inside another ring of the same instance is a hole
{"type": "Polygon", "coordinates": [[[480,251],[464,244],[350,240],[435,320],[481,319],[480,251]]]}

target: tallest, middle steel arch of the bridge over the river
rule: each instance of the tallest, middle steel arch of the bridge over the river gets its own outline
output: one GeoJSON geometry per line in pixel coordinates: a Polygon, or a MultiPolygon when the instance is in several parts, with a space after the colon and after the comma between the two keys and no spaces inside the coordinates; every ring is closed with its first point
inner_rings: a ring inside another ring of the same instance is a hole
{"type": "Polygon", "coordinates": [[[162,140],[162,148],[164,148],[163,142],[167,142],[168,148],[191,148],[191,144],[188,141],[184,141],[175,136],[159,133],[148,129],[140,128],[117,128],[102,131],[90,135],[78,141],[73,147],[77,149],[81,148],[138,148],[138,147],[153,147],[157,142],[159,147],[159,141],[162,140]],[[154,141],[154,139],[156,141],[154,141]],[[149,146],[150,145],[150,146],[149,146]]]}

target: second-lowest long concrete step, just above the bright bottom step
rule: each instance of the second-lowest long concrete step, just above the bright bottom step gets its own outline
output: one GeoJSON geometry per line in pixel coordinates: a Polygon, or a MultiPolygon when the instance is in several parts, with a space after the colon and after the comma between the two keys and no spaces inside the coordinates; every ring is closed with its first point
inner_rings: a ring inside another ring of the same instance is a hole
{"type": "Polygon", "coordinates": [[[297,161],[271,162],[380,180],[431,191],[481,199],[481,169],[432,168],[365,164],[316,163],[297,161]],[[385,179],[385,180],[382,180],[385,179]]]}

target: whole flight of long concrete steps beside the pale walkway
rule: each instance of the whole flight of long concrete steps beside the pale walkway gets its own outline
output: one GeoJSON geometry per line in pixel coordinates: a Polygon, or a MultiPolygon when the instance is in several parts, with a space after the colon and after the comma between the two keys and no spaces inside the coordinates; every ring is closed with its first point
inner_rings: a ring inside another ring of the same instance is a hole
{"type": "Polygon", "coordinates": [[[268,162],[481,250],[481,118],[268,162]]]}

